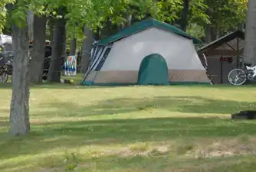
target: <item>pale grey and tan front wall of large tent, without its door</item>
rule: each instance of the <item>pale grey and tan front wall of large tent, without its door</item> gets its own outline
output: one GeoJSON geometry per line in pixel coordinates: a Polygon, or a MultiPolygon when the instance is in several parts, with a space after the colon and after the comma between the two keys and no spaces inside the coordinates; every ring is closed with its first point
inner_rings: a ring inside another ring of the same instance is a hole
{"type": "Polygon", "coordinates": [[[91,70],[86,81],[137,83],[140,63],[149,54],[165,58],[171,83],[209,82],[192,40],[159,28],[149,28],[114,42],[103,67],[100,71],[91,70]]]}

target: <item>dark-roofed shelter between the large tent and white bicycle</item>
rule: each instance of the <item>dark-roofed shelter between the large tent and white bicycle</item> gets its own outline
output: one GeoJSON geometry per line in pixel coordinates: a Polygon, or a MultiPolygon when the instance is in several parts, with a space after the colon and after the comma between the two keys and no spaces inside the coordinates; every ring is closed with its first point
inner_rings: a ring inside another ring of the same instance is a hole
{"type": "Polygon", "coordinates": [[[245,33],[238,30],[198,49],[199,57],[206,57],[203,64],[207,66],[208,77],[213,83],[229,83],[228,73],[241,65],[244,44],[245,33]]]}

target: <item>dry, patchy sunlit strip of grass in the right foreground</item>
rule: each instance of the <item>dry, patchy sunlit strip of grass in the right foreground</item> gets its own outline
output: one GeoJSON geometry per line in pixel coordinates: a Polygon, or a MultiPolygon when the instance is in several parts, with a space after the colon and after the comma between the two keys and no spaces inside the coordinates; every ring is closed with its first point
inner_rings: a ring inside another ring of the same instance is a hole
{"type": "Polygon", "coordinates": [[[256,138],[241,135],[238,138],[199,139],[198,141],[166,142],[165,144],[132,144],[126,148],[97,151],[92,157],[166,156],[176,155],[195,159],[231,157],[256,154],[256,138]]]}

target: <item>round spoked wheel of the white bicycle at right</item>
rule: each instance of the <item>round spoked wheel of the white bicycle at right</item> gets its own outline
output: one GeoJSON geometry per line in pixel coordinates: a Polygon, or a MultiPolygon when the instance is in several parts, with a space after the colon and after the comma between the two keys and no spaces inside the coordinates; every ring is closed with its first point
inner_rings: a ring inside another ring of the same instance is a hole
{"type": "Polygon", "coordinates": [[[244,70],[235,69],[228,73],[228,81],[234,86],[241,86],[247,80],[247,75],[244,70]]]}

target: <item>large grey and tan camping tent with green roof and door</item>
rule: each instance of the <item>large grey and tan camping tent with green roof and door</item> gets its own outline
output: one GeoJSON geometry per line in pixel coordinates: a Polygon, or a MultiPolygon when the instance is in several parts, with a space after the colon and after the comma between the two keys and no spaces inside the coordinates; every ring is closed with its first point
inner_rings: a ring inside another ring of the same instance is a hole
{"type": "Polygon", "coordinates": [[[201,41],[148,18],[98,41],[83,85],[209,83],[194,44],[201,41]]]}

